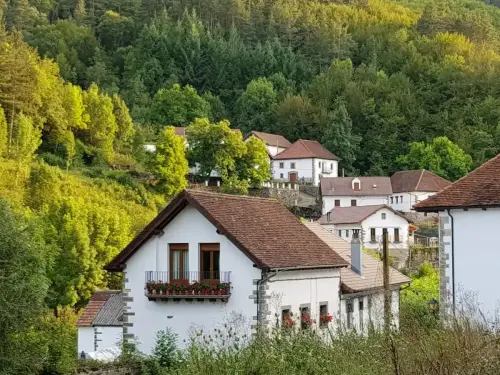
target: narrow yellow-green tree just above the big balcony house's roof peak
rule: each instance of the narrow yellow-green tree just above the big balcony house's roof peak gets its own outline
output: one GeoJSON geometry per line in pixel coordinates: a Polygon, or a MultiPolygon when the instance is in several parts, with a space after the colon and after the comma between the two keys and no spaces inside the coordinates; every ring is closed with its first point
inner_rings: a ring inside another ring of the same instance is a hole
{"type": "Polygon", "coordinates": [[[165,127],[158,137],[152,172],[158,179],[157,186],[168,197],[173,197],[187,186],[189,166],[184,139],[175,134],[173,126],[165,127]]]}

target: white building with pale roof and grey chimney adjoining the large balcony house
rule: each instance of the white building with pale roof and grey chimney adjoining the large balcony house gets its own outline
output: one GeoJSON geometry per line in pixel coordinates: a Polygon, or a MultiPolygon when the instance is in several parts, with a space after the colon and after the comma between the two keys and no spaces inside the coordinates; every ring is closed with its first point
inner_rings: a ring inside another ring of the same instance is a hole
{"type": "MultiPolygon", "coordinates": [[[[340,322],[342,328],[367,334],[370,325],[384,325],[384,280],[382,262],[361,250],[359,241],[347,242],[320,224],[304,223],[323,242],[339,254],[350,267],[340,270],[340,322]],[[360,256],[358,256],[359,254],[360,256]]],[[[394,268],[389,271],[392,324],[399,327],[399,292],[411,280],[394,268]]]]}

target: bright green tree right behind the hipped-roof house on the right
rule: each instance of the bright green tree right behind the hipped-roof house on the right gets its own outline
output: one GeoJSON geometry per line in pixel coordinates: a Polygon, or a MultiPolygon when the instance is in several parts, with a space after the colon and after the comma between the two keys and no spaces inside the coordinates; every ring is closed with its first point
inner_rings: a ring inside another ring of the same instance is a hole
{"type": "Polygon", "coordinates": [[[409,153],[400,156],[397,162],[403,169],[428,169],[454,181],[470,171],[472,158],[448,138],[439,137],[428,145],[411,143],[409,153]]]}

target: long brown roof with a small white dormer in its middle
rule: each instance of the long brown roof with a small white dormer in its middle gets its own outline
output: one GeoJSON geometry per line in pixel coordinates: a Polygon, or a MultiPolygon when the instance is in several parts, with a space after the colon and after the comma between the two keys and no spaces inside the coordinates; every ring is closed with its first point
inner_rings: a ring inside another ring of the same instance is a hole
{"type": "Polygon", "coordinates": [[[321,177],[321,195],[324,196],[378,196],[391,195],[389,177],[321,177]],[[352,180],[358,179],[360,190],[353,190],[352,180]]]}

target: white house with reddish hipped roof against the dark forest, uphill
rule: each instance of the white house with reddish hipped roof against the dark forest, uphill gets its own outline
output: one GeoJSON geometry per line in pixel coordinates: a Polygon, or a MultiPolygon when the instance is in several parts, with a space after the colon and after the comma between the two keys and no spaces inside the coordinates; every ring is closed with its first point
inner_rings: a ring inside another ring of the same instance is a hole
{"type": "Polygon", "coordinates": [[[273,156],[273,180],[309,182],[319,185],[322,176],[337,177],[339,158],[319,142],[299,139],[285,151],[273,156]]]}

